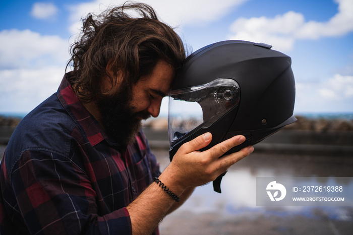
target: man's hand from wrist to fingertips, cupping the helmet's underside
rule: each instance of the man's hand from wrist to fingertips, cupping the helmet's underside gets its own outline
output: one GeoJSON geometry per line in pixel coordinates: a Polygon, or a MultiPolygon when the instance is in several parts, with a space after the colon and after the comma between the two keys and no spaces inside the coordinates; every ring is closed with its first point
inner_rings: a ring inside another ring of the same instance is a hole
{"type": "Polygon", "coordinates": [[[173,178],[174,184],[182,188],[196,187],[214,181],[231,165],[253,152],[252,146],[245,147],[236,153],[222,156],[231,148],[242,144],[244,136],[234,136],[212,148],[200,152],[212,140],[211,133],[205,133],[185,143],[174,155],[173,160],[163,173],[173,178]],[[221,157],[222,156],[222,157],[221,157]]]}

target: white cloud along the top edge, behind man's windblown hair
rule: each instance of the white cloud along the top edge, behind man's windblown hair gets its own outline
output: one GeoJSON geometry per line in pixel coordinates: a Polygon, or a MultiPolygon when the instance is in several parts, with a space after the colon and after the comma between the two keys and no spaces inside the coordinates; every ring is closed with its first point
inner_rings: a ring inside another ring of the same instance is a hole
{"type": "MultiPolygon", "coordinates": [[[[229,13],[233,8],[249,0],[222,0],[215,2],[214,0],[179,0],[179,1],[159,1],[146,0],[156,11],[159,19],[172,27],[182,27],[191,24],[204,24],[219,19],[229,13]]],[[[83,3],[71,7],[70,32],[77,33],[81,28],[79,22],[81,18],[85,18],[88,13],[98,14],[105,10],[107,6],[120,6],[125,0],[109,1],[96,0],[91,3],[83,3]]]]}

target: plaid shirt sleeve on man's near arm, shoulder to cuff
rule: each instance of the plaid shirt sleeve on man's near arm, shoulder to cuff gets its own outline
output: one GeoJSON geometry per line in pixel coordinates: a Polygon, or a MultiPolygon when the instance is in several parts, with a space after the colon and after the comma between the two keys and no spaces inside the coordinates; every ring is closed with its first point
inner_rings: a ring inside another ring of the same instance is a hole
{"type": "Polygon", "coordinates": [[[11,172],[12,207],[31,234],[132,234],[125,207],[99,216],[87,174],[70,159],[26,151],[11,172]]]}

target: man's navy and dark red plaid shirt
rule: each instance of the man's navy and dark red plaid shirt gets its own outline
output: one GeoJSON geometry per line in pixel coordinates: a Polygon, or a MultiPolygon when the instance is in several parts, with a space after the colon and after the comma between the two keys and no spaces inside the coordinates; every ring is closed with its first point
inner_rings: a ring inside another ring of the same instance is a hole
{"type": "Polygon", "coordinates": [[[159,173],[143,133],[134,145],[116,143],[64,77],[57,93],[21,121],[7,146],[0,233],[131,234],[126,206],[159,173]]]}

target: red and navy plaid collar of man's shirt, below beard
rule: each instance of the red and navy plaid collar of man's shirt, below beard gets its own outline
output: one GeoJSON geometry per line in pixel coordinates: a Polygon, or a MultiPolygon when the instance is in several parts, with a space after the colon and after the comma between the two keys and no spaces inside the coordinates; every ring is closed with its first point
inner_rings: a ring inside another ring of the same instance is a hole
{"type": "Polygon", "coordinates": [[[67,80],[68,75],[69,73],[64,75],[56,94],[71,118],[86,134],[88,141],[92,146],[100,143],[102,140],[107,141],[110,145],[119,146],[119,144],[112,138],[108,138],[102,126],[79,100],[71,87],[71,84],[67,80]]]}

